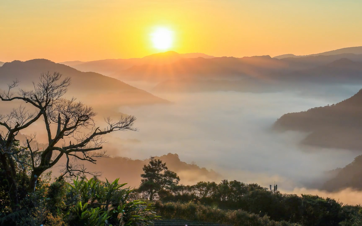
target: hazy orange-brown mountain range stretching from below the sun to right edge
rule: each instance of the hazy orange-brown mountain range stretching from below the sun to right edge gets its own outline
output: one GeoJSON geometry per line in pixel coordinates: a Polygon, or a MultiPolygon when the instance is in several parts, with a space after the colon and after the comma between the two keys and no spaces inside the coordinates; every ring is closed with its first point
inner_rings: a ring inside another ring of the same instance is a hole
{"type": "MultiPolygon", "coordinates": [[[[256,80],[269,81],[303,81],[304,74],[312,74],[308,79],[318,79],[323,76],[326,83],[329,83],[329,75],[343,73],[343,78],[348,79],[349,72],[361,72],[358,63],[362,61],[362,54],[343,54],[332,56],[311,56],[303,58],[275,59],[270,56],[252,57],[214,57],[212,59],[181,59],[171,64],[135,65],[126,70],[120,70],[111,74],[124,81],[156,81],[180,79],[219,79],[219,80],[240,80],[254,78],[256,80]],[[348,59],[348,60],[346,60],[348,59]],[[337,72],[331,74],[331,68],[338,68],[337,72]],[[323,72],[323,74],[319,74],[323,72]],[[316,76],[315,76],[316,75],[316,76]],[[324,77],[327,76],[327,77],[324,77]]],[[[355,74],[352,74],[355,76],[355,74]]],[[[361,77],[362,79],[362,77],[361,77]]]]}

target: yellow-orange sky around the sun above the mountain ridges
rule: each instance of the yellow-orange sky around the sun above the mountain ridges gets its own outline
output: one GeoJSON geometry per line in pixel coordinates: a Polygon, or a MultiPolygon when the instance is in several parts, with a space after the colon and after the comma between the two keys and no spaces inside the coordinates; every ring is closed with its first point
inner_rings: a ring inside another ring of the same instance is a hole
{"type": "Polygon", "coordinates": [[[1,0],[0,61],[143,57],[167,27],[172,50],[313,54],[362,46],[361,0],[1,0]]]}

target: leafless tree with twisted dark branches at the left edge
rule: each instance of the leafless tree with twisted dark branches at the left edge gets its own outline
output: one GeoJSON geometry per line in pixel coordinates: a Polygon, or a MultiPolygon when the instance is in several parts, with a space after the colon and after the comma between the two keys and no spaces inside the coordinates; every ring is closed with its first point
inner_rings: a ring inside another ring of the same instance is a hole
{"type": "Polygon", "coordinates": [[[33,82],[33,90],[19,89],[18,92],[13,92],[19,83],[16,80],[8,84],[7,91],[0,94],[1,101],[24,102],[24,105],[14,108],[9,114],[0,115],[1,173],[8,182],[13,210],[16,210],[18,204],[16,178],[19,166],[30,169],[27,189],[32,192],[38,177],[55,166],[61,157],[67,159],[62,176],[67,173],[75,175],[77,172],[87,172],[83,165],[72,163],[70,158],[94,163],[96,158],[105,157],[105,152],[100,151],[104,144],[102,135],[113,131],[136,130],[133,127],[134,116],[123,117],[117,121],[108,118],[105,120],[107,128],[101,130],[96,127],[93,120],[96,113],[91,107],[76,102],[75,98],[68,100],[63,97],[71,79],[61,78],[62,75],[57,72],[43,73],[38,83],[33,82]],[[31,105],[34,112],[25,105],[31,105]],[[39,120],[41,118],[43,120],[39,120]],[[20,147],[15,136],[38,121],[43,121],[45,125],[48,140],[46,147],[32,148],[30,143],[34,136],[26,140],[24,147],[20,147]]]}

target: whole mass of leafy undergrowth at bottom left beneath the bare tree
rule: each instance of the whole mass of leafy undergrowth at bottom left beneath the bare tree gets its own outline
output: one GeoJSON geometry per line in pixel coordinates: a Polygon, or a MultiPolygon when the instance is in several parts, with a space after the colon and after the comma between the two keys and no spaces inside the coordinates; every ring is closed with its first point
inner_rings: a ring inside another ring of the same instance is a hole
{"type": "Polygon", "coordinates": [[[41,182],[27,196],[18,211],[2,211],[0,225],[108,226],[153,225],[158,219],[151,204],[132,200],[133,191],[125,184],[96,178],[76,178],[49,185],[41,182]]]}

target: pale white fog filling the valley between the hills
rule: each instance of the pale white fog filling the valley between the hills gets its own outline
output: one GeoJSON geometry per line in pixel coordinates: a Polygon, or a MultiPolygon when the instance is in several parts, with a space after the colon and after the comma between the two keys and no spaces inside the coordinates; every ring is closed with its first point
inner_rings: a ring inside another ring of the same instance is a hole
{"type": "Polygon", "coordinates": [[[283,93],[155,93],[173,104],[120,107],[119,111],[137,117],[139,131],[114,133],[115,139],[108,138],[109,145],[119,150],[112,154],[132,159],[177,153],[181,161],[194,161],[226,179],[265,187],[275,181],[284,191],[312,188],[324,171],[344,167],[359,153],[300,146],[305,134],[273,132],[271,125],[285,113],[337,103],[359,89],[330,86],[283,93]]]}

